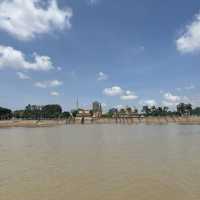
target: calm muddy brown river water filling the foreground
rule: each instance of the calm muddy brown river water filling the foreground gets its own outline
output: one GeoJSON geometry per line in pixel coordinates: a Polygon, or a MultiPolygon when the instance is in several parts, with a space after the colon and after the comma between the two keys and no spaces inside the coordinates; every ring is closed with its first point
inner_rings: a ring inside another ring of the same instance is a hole
{"type": "Polygon", "coordinates": [[[200,126],[0,130],[2,200],[199,200],[200,126]]]}

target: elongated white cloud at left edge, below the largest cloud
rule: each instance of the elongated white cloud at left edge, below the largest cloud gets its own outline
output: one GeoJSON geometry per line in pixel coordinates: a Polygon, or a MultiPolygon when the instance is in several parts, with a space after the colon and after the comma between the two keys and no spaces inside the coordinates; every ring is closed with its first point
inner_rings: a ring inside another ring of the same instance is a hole
{"type": "Polygon", "coordinates": [[[51,58],[48,56],[40,56],[34,53],[33,61],[29,62],[21,51],[13,47],[0,45],[0,69],[4,68],[48,71],[53,69],[54,66],[51,58]]]}

